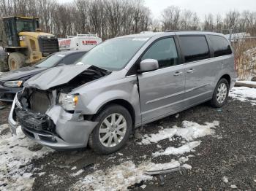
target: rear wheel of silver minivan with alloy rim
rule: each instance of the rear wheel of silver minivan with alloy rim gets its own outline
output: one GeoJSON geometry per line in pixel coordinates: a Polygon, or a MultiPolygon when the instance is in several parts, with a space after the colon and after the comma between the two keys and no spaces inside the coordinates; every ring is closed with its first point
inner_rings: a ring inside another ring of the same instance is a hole
{"type": "Polygon", "coordinates": [[[211,106],[215,108],[222,107],[227,102],[227,97],[229,93],[230,85],[227,82],[227,79],[219,79],[217,86],[214,90],[214,95],[211,98],[211,106]]]}

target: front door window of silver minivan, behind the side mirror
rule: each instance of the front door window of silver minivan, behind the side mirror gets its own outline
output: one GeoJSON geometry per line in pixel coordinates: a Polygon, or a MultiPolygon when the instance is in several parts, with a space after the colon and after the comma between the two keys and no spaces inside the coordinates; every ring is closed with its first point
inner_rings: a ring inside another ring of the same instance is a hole
{"type": "Polygon", "coordinates": [[[159,63],[159,69],[178,64],[178,54],[173,38],[161,39],[155,42],[143,55],[141,61],[155,59],[159,63]]]}

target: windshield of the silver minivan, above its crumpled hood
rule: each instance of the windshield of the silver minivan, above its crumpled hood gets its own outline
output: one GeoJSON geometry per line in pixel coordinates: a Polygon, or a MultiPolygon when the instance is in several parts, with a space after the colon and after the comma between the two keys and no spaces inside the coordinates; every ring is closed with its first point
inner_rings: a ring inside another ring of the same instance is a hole
{"type": "Polygon", "coordinates": [[[109,71],[118,71],[132,59],[148,37],[110,39],[90,50],[78,64],[94,65],[109,71]]]}

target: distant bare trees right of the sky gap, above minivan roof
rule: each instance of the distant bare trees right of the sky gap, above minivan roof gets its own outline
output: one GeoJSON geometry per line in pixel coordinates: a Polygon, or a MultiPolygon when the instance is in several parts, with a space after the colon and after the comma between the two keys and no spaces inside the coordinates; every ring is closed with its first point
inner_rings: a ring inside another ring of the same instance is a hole
{"type": "Polygon", "coordinates": [[[196,12],[179,7],[170,6],[162,11],[162,18],[158,22],[162,30],[189,29],[216,31],[223,34],[246,32],[256,35],[256,12],[236,10],[227,12],[224,16],[209,13],[200,20],[196,12]]]}

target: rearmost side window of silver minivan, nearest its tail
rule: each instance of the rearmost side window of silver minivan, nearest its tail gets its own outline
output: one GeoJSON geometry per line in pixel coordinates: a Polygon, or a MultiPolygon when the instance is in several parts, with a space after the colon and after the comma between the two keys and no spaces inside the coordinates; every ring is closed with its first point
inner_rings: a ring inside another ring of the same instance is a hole
{"type": "Polygon", "coordinates": [[[232,54],[230,43],[227,41],[227,39],[222,36],[215,35],[209,35],[208,37],[214,50],[214,57],[232,54]]]}

